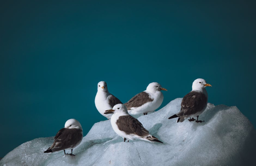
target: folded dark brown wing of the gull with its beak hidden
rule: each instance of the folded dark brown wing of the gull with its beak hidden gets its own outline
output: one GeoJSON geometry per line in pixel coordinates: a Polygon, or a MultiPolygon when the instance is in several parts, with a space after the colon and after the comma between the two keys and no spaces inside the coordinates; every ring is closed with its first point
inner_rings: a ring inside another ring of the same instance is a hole
{"type": "Polygon", "coordinates": [[[54,137],[54,143],[51,145],[49,149],[53,152],[67,149],[76,145],[78,141],[81,140],[82,130],[80,129],[68,129],[62,128],[54,137]]]}

